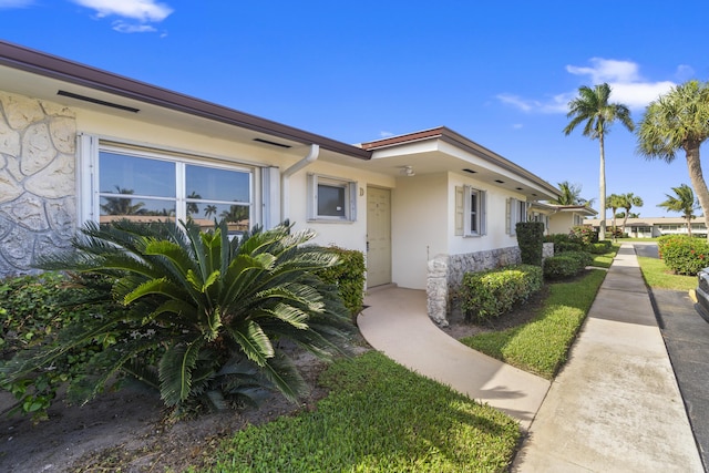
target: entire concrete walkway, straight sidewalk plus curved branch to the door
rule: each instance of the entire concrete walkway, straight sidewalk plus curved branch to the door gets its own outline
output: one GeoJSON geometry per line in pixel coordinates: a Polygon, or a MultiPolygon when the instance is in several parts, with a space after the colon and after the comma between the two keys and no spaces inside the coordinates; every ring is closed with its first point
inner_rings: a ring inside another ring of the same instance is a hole
{"type": "Polygon", "coordinates": [[[528,435],[514,472],[703,472],[629,244],[548,393],[547,381],[439,330],[423,291],[387,289],[366,304],[358,323],[372,347],[520,420],[528,435]]]}

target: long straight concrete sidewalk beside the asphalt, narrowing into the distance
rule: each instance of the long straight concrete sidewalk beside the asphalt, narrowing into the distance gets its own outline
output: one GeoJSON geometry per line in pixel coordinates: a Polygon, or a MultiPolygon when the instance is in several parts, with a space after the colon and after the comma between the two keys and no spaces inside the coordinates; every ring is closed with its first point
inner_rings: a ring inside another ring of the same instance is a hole
{"type": "Polygon", "coordinates": [[[604,280],[515,472],[703,472],[631,245],[604,280]]]}

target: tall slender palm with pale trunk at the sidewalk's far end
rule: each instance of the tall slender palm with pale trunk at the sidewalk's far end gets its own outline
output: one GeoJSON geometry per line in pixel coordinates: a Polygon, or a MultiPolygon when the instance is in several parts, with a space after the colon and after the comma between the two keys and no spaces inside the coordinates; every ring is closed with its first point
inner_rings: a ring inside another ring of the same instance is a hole
{"type": "Polygon", "coordinates": [[[605,136],[610,124],[616,120],[633,131],[635,124],[630,119],[630,110],[619,103],[610,103],[610,86],[607,83],[590,89],[586,85],[578,89],[578,96],[568,103],[566,117],[572,121],[564,128],[564,133],[569,135],[576,126],[585,122],[583,134],[598,140],[600,144],[600,176],[599,176],[599,210],[600,230],[598,238],[606,238],[606,151],[605,136]]]}

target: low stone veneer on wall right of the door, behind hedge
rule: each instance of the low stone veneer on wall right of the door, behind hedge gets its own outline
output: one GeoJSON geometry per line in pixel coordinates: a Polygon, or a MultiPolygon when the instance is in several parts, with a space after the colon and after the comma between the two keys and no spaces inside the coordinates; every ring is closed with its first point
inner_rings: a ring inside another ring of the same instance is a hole
{"type": "MultiPolygon", "coordinates": [[[[545,243],[542,257],[554,256],[554,244],[545,243]]],[[[465,273],[476,273],[522,261],[520,247],[497,248],[462,255],[438,255],[429,261],[427,300],[429,317],[441,327],[448,327],[448,315],[455,310],[455,294],[465,273]]]]}

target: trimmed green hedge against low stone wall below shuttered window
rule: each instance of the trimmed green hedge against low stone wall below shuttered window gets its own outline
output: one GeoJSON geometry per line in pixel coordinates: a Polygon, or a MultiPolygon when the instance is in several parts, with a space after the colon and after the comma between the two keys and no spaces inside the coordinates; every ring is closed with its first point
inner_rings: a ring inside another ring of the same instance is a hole
{"type": "Polygon", "coordinates": [[[461,308],[466,320],[485,320],[508,312],[542,288],[542,268],[516,265],[466,273],[461,286],[461,308]]]}

